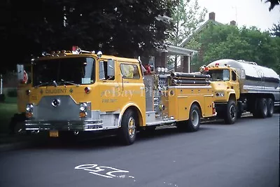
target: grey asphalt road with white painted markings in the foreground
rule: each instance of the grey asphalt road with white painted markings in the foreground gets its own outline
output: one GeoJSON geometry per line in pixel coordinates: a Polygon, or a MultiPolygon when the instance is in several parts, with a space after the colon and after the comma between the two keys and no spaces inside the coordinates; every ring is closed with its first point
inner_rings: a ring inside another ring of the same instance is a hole
{"type": "Polygon", "coordinates": [[[0,186],[279,186],[279,114],[156,130],[131,146],[114,137],[54,142],[1,153],[0,186]]]}

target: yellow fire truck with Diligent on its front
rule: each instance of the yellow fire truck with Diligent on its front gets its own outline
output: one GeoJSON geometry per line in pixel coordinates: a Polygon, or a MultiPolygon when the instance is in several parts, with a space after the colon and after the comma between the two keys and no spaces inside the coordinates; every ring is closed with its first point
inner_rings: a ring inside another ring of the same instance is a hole
{"type": "Polygon", "coordinates": [[[138,131],[160,125],[197,131],[201,118],[216,116],[208,75],[148,72],[139,59],[78,47],[43,53],[31,67],[31,86],[23,91],[27,132],[59,137],[65,131],[116,130],[129,145],[138,131]]]}

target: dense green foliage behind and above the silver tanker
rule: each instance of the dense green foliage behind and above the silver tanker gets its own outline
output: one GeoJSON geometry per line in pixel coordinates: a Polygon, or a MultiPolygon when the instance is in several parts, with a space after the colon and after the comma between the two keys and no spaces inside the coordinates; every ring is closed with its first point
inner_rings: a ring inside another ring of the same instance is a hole
{"type": "MultiPolygon", "coordinates": [[[[211,25],[196,38],[200,43],[197,67],[214,60],[229,58],[246,60],[274,69],[278,74],[280,64],[280,39],[256,27],[211,25]]],[[[198,70],[198,69],[196,69],[198,70]]]]}

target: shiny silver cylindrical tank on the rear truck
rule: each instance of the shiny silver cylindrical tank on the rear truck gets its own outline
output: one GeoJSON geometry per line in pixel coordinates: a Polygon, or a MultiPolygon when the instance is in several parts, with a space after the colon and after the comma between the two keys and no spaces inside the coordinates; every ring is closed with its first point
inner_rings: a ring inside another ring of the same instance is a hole
{"type": "Polygon", "coordinates": [[[237,70],[240,93],[272,93],[275,102],[279,102],[279,75],[273,69],[259,66],[255,62],[244,60],[222,59],[208,64],[208,67],[230,65],[237,70]]]}

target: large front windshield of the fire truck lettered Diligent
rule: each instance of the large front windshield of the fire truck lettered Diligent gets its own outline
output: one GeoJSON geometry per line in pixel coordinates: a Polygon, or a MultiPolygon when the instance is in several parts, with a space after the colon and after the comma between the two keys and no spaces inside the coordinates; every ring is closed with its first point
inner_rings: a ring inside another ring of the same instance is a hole
{"type": "Polygon", "coordinates": [[[33,65],[33,85],[92,84],[95,77],[94,62],[92,57],[37,60],[33,65]]]}

